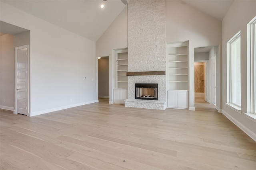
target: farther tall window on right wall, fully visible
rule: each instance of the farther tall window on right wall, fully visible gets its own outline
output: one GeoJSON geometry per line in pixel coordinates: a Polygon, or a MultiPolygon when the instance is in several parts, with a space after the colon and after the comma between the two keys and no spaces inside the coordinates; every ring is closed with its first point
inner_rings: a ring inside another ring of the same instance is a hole
{"type": "Polygon", "coordinates": [[[240,31],[227,43],[228,103],[241,110],[240,31]]]}

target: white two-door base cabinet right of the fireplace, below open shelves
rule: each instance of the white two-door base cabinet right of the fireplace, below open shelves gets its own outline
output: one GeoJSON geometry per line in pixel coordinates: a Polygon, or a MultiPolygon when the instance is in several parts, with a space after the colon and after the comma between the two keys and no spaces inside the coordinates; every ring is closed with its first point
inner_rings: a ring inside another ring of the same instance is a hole
{"type": "Polygon", "coordinates": [[[168,90],[167,107],[188,109],[188,90],[168,90]]]}

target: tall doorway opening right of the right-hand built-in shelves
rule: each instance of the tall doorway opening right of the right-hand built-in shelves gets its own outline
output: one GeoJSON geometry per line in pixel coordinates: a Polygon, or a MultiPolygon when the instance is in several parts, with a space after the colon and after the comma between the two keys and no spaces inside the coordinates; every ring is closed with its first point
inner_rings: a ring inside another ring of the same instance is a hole
{"type": "MultiPolygon", "coordinates": [[[[215,110],[216,98],[216,58],[218,46],[194,48],[194,92],[196,110],[215,110]]],[[[219,55],[218,55],[219,56],[219,55]]]]}

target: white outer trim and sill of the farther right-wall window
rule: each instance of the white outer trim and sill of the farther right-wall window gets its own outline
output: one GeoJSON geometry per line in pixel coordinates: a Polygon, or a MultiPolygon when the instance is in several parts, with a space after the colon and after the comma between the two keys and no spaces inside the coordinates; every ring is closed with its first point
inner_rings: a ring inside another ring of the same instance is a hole
{"type": "Polygon", "coordinates": [[[231,87],[230,87],[230,82],[231,82],[231,70],[230,70],[230,57],[231,57],[231,44],[232,42],[236,41],[238,37],[241,37],[241,31],[236,33],[227,43],[227,106],[230,108],[234,109],[238,113],[241,113],[241,106],[237,106],[236,104],[231,103],[231,87]]]}

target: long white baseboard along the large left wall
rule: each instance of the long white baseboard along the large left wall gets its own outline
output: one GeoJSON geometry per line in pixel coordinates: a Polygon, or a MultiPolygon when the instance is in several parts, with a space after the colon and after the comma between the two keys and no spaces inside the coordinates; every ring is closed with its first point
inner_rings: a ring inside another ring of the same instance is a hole
{"type": "Polygon", "coordinates": [[[83,103],[72,104],[72,105],[68,105],[68,106],[62,106],[62,107],[56,107],[56,108],[52,108],[52,109],[30,112],[30,114],[28,116],[42,115],[44,113],[50,113],[53,111],[59,111],[59,110],[68,109],[68,108],[76,107],[76,106],[82,106],[82,105],[91,104],[91,103],[95,103],[95,102],[96,102],[96,100],[92,100],[89,102],[83,102],[83,103]]]}

